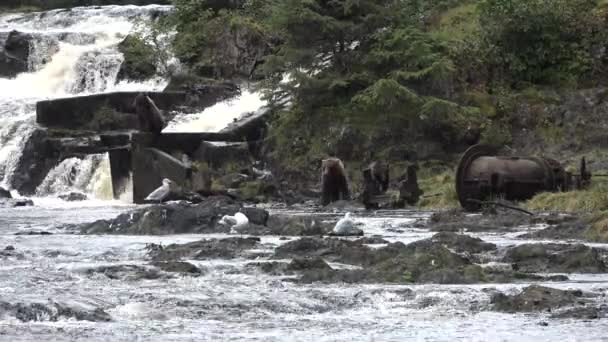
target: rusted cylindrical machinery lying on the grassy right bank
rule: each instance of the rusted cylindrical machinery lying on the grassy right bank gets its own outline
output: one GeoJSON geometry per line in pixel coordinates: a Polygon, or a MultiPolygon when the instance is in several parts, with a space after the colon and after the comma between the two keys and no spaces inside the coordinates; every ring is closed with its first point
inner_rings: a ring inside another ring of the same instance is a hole
{"type": "Polygon", "coordinates": [[[489,146],[475,145],[460,159],[456,169],[456,193],[466,210],[479,210],[480,201],[494,198],[522,201],[543,191],[582,189],[591,180],[584,158],[580,174],[574,175],[554,159],[495,154],[489,146]]]}

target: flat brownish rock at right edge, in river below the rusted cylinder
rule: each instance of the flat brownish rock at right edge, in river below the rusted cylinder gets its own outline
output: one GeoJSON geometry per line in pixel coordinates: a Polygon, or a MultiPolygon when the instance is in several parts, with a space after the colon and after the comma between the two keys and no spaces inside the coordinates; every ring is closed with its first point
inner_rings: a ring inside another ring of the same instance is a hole
{"type": "Polygon", "coordinates": [[[507,251],[503,261],[522,272],[602,273],[606,265],[599,250],[582,244],[525,244],[507,251]]]}

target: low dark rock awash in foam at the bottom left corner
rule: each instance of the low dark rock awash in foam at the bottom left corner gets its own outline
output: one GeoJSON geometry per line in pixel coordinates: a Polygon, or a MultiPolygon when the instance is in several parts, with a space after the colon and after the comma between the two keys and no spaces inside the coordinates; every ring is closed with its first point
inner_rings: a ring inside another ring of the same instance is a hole
{"type": "Polygon", "coordinates": [[[0,302],[0,316],[14,316],[22,322],[75,319],[78,321],[109,322],[112,317],[101,308],[78,302],[8,303],[0,302]]]}

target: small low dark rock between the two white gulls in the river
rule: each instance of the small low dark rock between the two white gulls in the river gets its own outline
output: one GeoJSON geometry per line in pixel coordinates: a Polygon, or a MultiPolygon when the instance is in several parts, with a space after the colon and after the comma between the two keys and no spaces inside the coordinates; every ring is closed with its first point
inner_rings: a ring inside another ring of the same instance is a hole
{"type": "Polygon", "coordinates": [[[286,236],[325,235],[333,228],[319,217],[282,214],[271,215],[267,226],[273,234],[286,236]]]}

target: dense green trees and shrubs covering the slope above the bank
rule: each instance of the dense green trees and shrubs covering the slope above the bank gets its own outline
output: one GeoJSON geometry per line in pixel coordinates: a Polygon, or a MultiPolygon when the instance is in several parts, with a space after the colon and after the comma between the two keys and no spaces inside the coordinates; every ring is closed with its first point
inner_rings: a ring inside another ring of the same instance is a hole
{"type": "Polygon", "coordinates": [[[605,0],[173,2],[163,25],[192,73],[255,77],[269,99],[291,99],[270,130],[286,175],[333,154],[396,172],[435,160],[436,177],[467,145],[511,144],[521,128],[558,144],[565,129],[543,108],[606,79],[605,0]]]}

